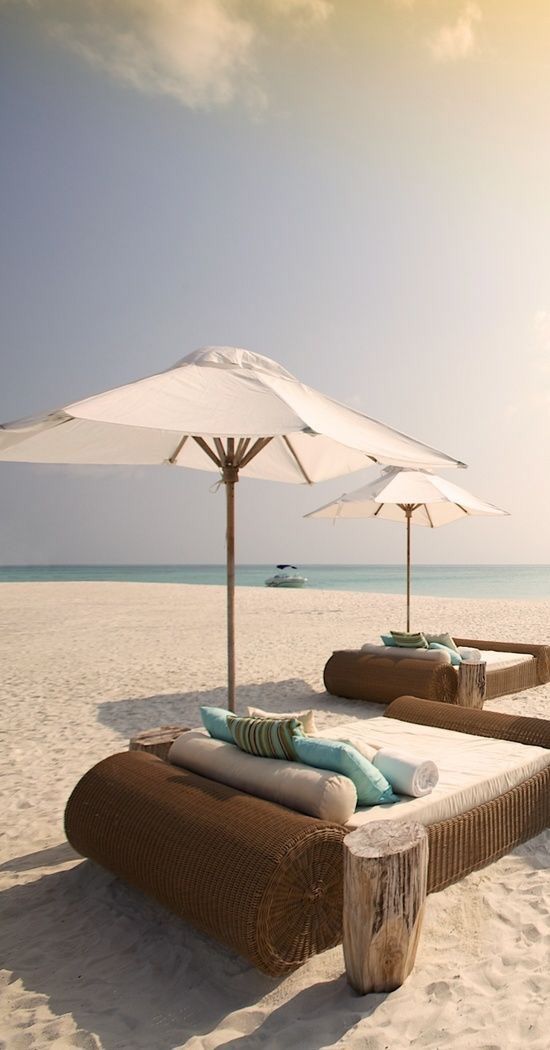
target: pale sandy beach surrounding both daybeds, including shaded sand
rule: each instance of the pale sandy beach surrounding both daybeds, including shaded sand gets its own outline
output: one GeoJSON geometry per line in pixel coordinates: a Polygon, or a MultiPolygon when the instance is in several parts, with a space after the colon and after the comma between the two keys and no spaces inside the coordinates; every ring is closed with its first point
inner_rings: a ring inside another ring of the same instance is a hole
{"type": "MultiPolygon", "coordinates": [[[[136,730],[224,704],[224,617],[218,587],[0,587],[0,1046],[548,1050],[550,833],[431,895],[414,973],[364,998],[340,948],[270,980],[72,853],[63,808],[85,770],[136,730]]],[[[417,598],[414,618],[550,640],[550,602],[417,598]]],[[[360,718],[323,692],[324,663],[402,620],[399,597],[240,589],[240,708],[360,718]]],[[[545,717],[549,701],[545,687],[488,706],[545,717]]]]}

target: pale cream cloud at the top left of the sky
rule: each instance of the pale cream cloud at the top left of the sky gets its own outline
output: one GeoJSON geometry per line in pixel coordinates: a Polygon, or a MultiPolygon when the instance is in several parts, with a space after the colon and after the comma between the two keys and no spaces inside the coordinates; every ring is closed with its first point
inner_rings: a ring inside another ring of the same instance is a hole
{"type": "MultiPolygon", "coordinates": [[[[0,0],[1,2],[1,0],[0,0]]],[[[192,109],[266,105],[262,16],[321,23],[331,0],[12,0],[89,65],[192,109]]]]}

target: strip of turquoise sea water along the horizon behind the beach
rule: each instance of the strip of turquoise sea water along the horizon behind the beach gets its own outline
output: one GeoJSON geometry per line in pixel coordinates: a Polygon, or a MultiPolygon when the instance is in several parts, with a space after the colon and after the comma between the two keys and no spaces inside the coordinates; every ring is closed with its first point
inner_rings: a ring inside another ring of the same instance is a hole
{"type": "MultiPolygon", "coordinates": [[[[237,586],[263,587],[273,565],[240,565],[237,586]]],[[[315,590],[402,594],[401,565],[301,565],[315,590]]],[[[106,580],[129,583],[225,584],[223,565],[21,565],[0,566],[0,583],[106,580]]],[[[442,597],[550,598],[550,565],[417,565],[415,594],[442,597]]]]}

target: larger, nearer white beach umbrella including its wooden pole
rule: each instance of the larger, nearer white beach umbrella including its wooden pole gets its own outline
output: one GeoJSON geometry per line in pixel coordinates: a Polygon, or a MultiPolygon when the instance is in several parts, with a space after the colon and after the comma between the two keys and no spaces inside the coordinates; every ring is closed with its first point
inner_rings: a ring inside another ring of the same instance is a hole
{"type": "Polygon", "coordinates": [[[234,486],[313,484],[371,463],[464,466],[305,386],[275,361],[207,346],[174,368],[0,426],[0,460],[218,470],[227,494],[228,705],[234,710],[234,486]]]}

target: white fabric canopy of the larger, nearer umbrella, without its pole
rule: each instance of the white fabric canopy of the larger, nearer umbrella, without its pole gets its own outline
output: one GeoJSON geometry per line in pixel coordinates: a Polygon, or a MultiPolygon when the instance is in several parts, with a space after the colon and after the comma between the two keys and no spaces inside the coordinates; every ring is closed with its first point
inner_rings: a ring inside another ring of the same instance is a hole
{"type": "MultiPolygon", "coordinates": [[[[35,447],[28,449],[43,457],[40,462],[47,462],[45,457],[49,455],[63,456],[67,445],[71,462],[78,462],[80,440],[85,457],[81,462],[89,462],[88,457],[97,439],[93,422],[158,430],[166,435],[166,442],[163,441],[155,453],[158,462],[169,460],[183,466],[194,466],[192,445],[183,441],[178,448],[178,443],[195,435],[205,439],[235,437],[251,441],[270,437],[272,442],[283,443],[287,448],[291,440],[296,457],[305,463],[306,477],[297,479],[298,483],[304,484],[309,481],[308,466],[313,469],[315,458],[319,455],[312,438],[323,438],[329,443],[336,442],[347,447],[351,453],[358,453],[353,460],[358,465],[353,469],[368,465],[364,462],[365,456],[375,463],[397,463],[401,466],[464,466],[460,460],[306,386],[275,361],[231,346],[208,346],[194,351],[173,368],[145,379],[96,394],[30,420],[4,424],[0,427],[0,453],[2,458],[18,459],[19,455],[23,455],[22,450],[16,453],[18,444],[51,429],[58,433],[51,436],[48,448],[41,452],[35,443],[35,447]],[[75,427],[69,427],[71,420],[81,423],[78,434],[75,427]],[[84,426],[84,421],[88,422],[89,428],[84,426]]],[[[121,436],[117,443],[114,436],[109,436],[111,456],[123,456],[125,463],[132,454],[126,447],[130,443],[128,433],[121,436]]],[[[51,459],[51,462],[55,460],[51,459]]],[[[241,470],[251,462],[252,459],[249,459],[247,464],[242,464],[241,470]]],[[[266,462],[265,457],[262,462],[266,462]]],[[[210,469],[215,469],[215,465],[210,469]]],[[[346,465],[340,470],[337,465],[331,476],[338,477],[338,472],[347,472],[346,465]]],[[[255,472],[254,476],[260,475],[255,472]]]]}

